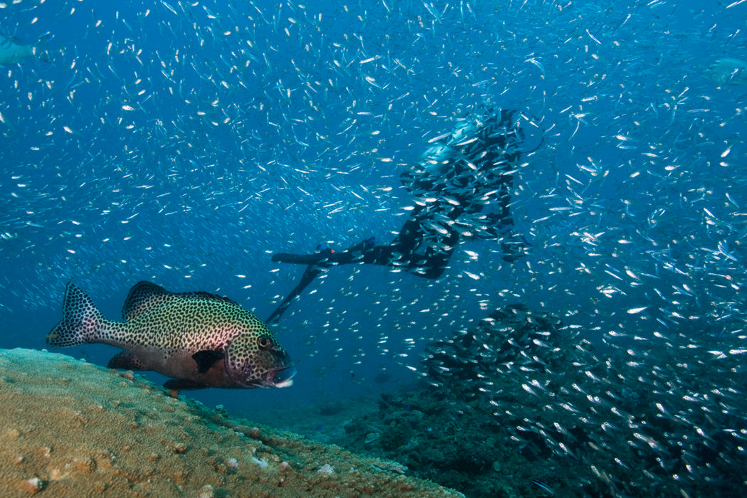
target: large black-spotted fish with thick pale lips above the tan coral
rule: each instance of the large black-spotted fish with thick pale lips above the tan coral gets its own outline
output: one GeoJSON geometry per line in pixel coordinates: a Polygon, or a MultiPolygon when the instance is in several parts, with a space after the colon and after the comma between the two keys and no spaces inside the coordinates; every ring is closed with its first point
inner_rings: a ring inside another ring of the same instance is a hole
{"type": "Polygon", "coordinates": [[[67,284],[63,320],[50,346],[104,343],[125,349],[109,368],[154,370],[170,389],[286,387],[296,369],[273,332],[227,297],[173,293],[141,281],[131,288],[124,322],[105,319],[90,297],[67,284]]]}

